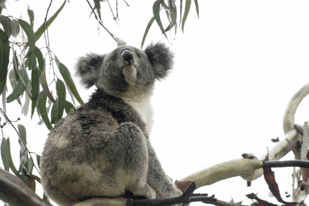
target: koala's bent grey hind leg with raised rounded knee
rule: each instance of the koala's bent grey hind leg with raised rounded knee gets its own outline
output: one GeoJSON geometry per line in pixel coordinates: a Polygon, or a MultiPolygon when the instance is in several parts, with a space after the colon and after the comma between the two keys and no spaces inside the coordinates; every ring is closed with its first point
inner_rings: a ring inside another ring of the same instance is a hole
{"type": "Polygon", "coordinates": [[[142,131],[135,124],[123,123],[112,136],[116,146],[116,151],[112,151],[116,152],[114,161],[121,161],[117,156],[122,153],[123,168],[131,176],[125,189],[131,191],[133,195],[141,195],[147,199],[156,198],[155,190],[147,183],[148,149],[142,131]]]}

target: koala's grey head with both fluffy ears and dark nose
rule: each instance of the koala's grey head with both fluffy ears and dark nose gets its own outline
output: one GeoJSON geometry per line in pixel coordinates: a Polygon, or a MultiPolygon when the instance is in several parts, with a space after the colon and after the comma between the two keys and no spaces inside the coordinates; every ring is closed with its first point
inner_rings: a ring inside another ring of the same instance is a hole
{"type": "Polygon", "coordinates": [[[116,96],[128,91],[146,94],[153,88],[155,79],[167,76],[173,57],[169,48],[160,42],[151,43],[144,51],[120,45],[108,54],[80,57],[77,72],[87,88],[95,85],[116,96]]]}

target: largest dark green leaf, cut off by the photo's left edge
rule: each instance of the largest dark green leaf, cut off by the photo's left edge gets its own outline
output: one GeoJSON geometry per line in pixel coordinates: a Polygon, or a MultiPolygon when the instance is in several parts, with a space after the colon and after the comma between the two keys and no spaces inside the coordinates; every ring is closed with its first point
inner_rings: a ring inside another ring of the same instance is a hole
{"type": "Polygon", "coordinates": [[[9,38],[3,30],[0,29],[0,94],[6,83],[7,70],[10,61],[9,38]]]}

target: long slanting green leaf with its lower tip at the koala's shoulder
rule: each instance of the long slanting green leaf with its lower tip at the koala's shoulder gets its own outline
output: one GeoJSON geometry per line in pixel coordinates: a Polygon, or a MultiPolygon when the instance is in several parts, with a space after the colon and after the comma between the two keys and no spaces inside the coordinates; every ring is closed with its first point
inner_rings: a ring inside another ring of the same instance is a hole
{"type": "Polygon", "coordinates": [[[78,94],[78,91],[77,91],[76,86],[74,84],[74,81],[71,77],[69,69],[66,68],[66,66],[64,64],[62,64],[56,56],[55,56],[55,59],[56,59],[56,64],[57,64],[57,67],[60,71],[60,74],[61,74],[62,78],[64,79],[64,81],[66,82],[66,84],[68,85],[68,87],[70,88],[72,94],[74,95],[74,97],[76,98],[76,100],[80,104],[84,104],[83,99],[78,94]]]}

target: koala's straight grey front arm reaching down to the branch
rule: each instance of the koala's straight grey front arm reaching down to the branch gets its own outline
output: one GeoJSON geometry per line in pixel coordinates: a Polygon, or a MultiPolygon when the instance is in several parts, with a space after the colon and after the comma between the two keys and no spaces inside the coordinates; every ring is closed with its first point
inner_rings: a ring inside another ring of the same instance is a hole
{"type": "Polygon", "coordinates": [[[155,150],[152,148],[149,141],[147,142],[147,147],[149,158],[147,183],[155,189],[159,198],[181,195],[182,192],[163,171],[155,150]]]}

